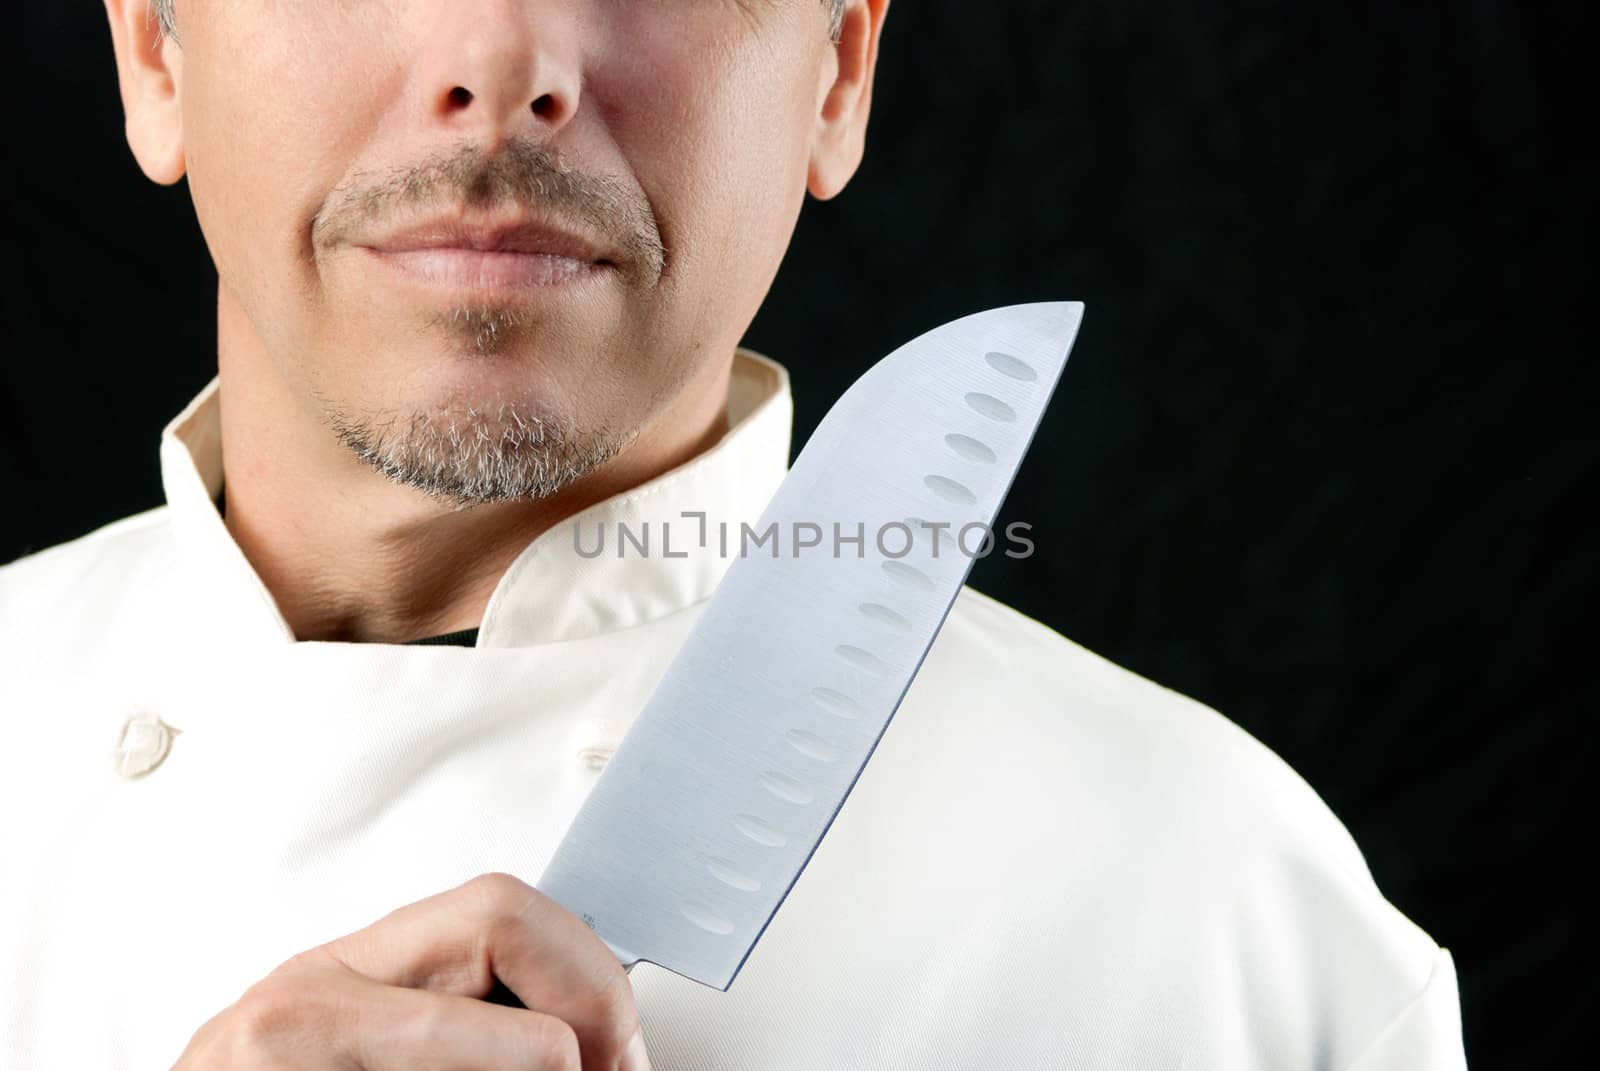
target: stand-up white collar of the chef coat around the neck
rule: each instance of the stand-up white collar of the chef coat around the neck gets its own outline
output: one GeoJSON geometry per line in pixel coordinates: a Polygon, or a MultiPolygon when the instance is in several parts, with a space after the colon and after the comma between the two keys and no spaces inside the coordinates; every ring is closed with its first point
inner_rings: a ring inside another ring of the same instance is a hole
{"type": "MultiPolygon", "coordinates": [[[[534,538],[490,596],[477,645],[576,640],[645,624],[709,597],[731,564],[718,549],[717,525],[738,533],[741,522],[754,525],[760,517],[789,467],[792,415],[784,367],[739,349],[723,437],[534,538]],[[704,527],[698,514],[706,514],[704,527]],[[709,538],[701,540],[702,531],[709,538]]],[[[219,379],[162,431],[162,482],[181,568],[205,604],[205,628],[234,640],[293,644],[272,592],[216,509],[222,490],[219,379]]]]}

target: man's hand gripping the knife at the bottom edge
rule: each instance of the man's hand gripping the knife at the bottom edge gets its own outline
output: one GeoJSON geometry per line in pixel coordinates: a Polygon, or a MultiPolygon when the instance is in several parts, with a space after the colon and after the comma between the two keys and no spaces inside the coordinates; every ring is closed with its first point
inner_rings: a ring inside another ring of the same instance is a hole
{"type": "Polygon", "coordinates": [[[648,1071],[634,989],[554,900],[483,874],[294,956],[173,1071],[648,1071]],[[504,983],[526,1009],[483,997],[504,983]]]}

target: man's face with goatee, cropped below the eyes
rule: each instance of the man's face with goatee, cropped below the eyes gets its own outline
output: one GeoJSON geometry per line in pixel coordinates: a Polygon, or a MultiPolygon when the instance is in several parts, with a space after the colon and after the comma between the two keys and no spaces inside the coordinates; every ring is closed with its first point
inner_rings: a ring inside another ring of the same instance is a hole
{"type": "Polygon", "coordinates": [[[392,479],[552,493],[738,343],[835,74],[821,0],[178,0],[221,301],[392,479]]]}

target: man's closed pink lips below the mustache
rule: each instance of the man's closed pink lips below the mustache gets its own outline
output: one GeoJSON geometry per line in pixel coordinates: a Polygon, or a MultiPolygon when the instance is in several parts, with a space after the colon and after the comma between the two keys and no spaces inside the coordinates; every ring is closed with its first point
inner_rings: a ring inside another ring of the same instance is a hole
{"type": "Polygon", "coordinates": [[[616,269],[598,243],[531,219],[432,219],[357,248],[413,282],[456,291],[555,288],[616,269]]]}

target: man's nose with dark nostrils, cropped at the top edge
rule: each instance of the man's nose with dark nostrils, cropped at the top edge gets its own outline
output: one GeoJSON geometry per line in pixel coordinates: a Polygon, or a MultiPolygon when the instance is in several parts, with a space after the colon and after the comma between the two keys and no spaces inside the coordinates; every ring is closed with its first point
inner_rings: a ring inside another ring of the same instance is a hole
{"type": "Polygon", "coordinates": [[[549,139],[578,110],[578,34],[566,5],[478,0],[426,5],[419,85],[429,117],[494,147],[549,139]]]}

